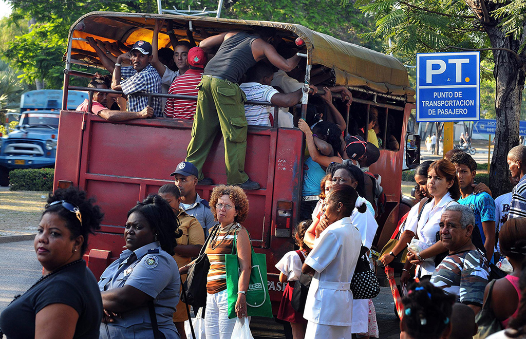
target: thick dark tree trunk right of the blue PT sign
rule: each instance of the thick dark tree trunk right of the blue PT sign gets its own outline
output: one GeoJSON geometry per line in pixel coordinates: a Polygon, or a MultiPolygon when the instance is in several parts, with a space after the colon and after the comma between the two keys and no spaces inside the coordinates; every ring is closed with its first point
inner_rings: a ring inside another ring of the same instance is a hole
{"type": "MultiPolygon", "coordinates": [[[[509,48],[517,51],[520,41],[505,36],[497,26],[485,27],[492,47],[509,48]]],[[[522,89],[526,75],[526,65],[506,50],[493,50],[495,68],[495,111],[497,112],[497,130],[495,147],[490,166],[490,189],[493,197],[510,192],[508,152],[519,145],[519,120],[522,89]]]]}

